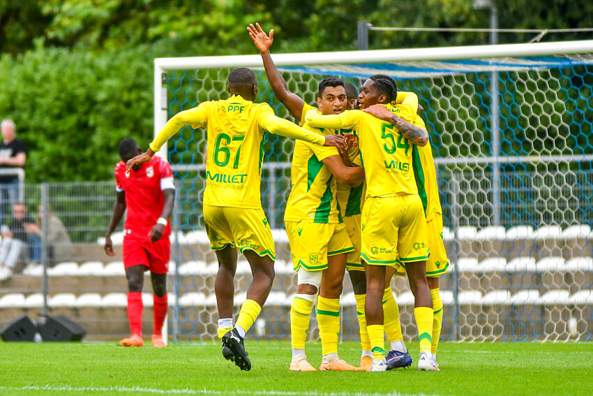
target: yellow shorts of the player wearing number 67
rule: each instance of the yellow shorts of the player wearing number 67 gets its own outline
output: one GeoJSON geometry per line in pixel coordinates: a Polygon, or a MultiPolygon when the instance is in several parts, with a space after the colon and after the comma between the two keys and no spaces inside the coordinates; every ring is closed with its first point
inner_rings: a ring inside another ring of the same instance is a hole
{"type": "Polygon", "coordinates": [[[241,251],[255,251],[259,256],[276,260],[276,248],[266,214],[261,207],[213,206],[204,204],[204,226],[210,249],[224,249],[227,244],[241,251]]]}

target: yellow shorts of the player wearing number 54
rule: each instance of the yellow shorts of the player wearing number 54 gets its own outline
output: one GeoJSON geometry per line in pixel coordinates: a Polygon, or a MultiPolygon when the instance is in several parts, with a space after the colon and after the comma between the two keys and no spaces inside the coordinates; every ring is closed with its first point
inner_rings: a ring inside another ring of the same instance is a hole
{"type": "Polygon", "coordinates": [[[361,229],[361,257],[367,264],[428,259],[426,217],[417,194],[367,198],[361,229]]]}

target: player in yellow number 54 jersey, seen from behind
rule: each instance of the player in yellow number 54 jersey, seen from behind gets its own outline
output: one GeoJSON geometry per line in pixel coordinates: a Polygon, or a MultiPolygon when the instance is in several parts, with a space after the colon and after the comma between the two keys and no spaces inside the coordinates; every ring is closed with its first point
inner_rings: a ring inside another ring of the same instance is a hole
{"type": "MultiPolygon", "coordinates": [[[[393,79],[386,75],[373,75],[363,84],[359,103],[364,109],[376,103],[391,103],[396,96],[397,87],[393,79]]],[[[430,334],[433,307],[425,274],[428,259],[426,217],[412,170],[413,146],[426,145],[428,133],[410,124],[415,108],[405,105],[396,111],[395,125],[358,110],[328,116],[309,111],[306,115],[306,121],[311,126],[354,129],[359,142],[366,177],[361,257],[367,279],[367,330],[375,358],[371,371],[385,371],[387,368],[382,297],[386,265],[396,265],[398,257],[406,263],[414,294],[414,316],[420,341],[419,369],[430,369],[426,361],[432,358],[430,334]]]]}

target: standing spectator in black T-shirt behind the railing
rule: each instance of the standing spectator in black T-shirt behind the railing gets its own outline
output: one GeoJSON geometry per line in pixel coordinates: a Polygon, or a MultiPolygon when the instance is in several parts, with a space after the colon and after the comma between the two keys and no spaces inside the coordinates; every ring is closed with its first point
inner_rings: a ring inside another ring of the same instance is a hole
{"type": "MultiPolygon", "coordinates": [[[[16,137],[15,122],[12,119],[3,119],[0,124],[2,141],[0,142],[0,169],[15,170],[24,168],[27,161],[27,146],[16,137]]],[[[19,178],[16,173],[0,173],[0,224],[8,218],[8,207],[17,203],[19,193],[19,178]]]]}

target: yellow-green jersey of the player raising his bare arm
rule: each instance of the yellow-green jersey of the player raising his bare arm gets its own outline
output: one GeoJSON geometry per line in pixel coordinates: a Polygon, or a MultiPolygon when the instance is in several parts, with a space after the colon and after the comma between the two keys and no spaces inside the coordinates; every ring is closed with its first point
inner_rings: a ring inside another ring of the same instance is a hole
{"type": "MultiPolygon", "coordinates": [[[[305,124],[309,110],[316,110],[305,103],[300,125],[308,131],[331,135],[331,129],[311,128],[305,124]]],[[[297,140],[294,143],[290,177],[292,189],[286,203],[284,219],[311,223],[341,223],[340,208],[336,200],[336,180],[323,160],[339,155],[335,147],[319,147],[297,140]]]]}

